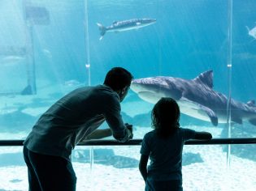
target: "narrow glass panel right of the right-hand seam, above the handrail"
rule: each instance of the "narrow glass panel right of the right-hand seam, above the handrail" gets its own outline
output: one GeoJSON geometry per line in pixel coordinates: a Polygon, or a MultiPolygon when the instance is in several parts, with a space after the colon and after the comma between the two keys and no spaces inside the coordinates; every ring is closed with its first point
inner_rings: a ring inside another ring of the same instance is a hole
{"type": "Polygon", "coordinates": [[[255,0],[239,3],[233,1],[232,19],[232,97],[244,103],[241,111],[233,111],[232,118],[236,124],[232,127],[233,138],[255,137],[255,0]],[[243,124],[237,125],[243,117],[243,124]]]}

